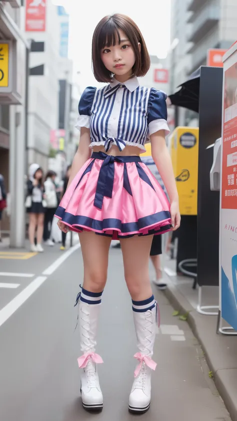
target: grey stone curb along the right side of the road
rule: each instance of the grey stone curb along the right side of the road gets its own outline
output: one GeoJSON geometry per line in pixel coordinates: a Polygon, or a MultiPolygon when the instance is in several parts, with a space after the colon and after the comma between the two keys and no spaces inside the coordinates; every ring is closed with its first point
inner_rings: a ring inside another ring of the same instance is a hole
{"type": "MultiPolygon", "coordinates": [[[[193,335],[198,340],[199,344],[201,345],[202,351],[205,354],[205,359],[209,369],[213,373],[213,380],[218,390],[220,397],[222,398],[224,405],[229,412],[232,421],[237,421],[237,400],[236,394],[231,387],[231,384],[226,381],[226,379],[222,379],[223,372],[226,372],[226,369],[221,370],[219,367],[215,367],[212,363],[211,353],[209,353],[208,347],[206,346],[205,342],[202,341],[201,335],[196,323],[196,317],[198,313],[193,309],[190,303],[186,300],[186,298],[179,292],[179,290],[172,284],[168,283],[167,289],[164,291],[164,295],[173,306],[173,308],[179,311],[181,314],[187,315],[187,323],[190,326],[193,335]]],[[[198,315],[199,316],[199,315],[198,315]]],[[[208,316],[203,316],[208,317],[208,316]]],[[[212,317],[212,316],[209,316],[212,317]]],[[[215,334],[215,333],[214,333],[215,334]]],[[[216,334],[215,334],[216,335],[216,334]]],[[[236,389],[235,389],[236,391],[236,389]]]]}

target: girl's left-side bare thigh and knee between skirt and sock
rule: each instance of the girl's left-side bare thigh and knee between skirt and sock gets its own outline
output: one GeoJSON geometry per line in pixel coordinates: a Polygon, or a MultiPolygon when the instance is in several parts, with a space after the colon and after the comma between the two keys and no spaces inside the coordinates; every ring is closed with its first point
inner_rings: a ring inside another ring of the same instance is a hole
{"type": "Polygon", "coordinates": [[[83,287],[91,292],[101,292],[107,279],[111,238],[82,231],[79,240],[84,265],[83,287]]]}

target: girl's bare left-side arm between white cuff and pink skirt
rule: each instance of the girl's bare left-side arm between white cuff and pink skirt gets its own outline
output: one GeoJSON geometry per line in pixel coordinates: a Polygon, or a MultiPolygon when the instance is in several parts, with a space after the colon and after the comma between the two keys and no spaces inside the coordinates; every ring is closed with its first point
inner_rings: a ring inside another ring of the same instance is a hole
{"type": "Polygon", "coordinates": [[[91,152],[89,149],[89,144],[90,144],[89,129],[86,127],[81,127],[80,141],[79,141],[77,151],[72,161],[70,177],[67,183],[67,189],[71,181],[73,180],[73,178],[76,176],[77,172],[84,165],[84,163],[90,158],[91,152]]]}

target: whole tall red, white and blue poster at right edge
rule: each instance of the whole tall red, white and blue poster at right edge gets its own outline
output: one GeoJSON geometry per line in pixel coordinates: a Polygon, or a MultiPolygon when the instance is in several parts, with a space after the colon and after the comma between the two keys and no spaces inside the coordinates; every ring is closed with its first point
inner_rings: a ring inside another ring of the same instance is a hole
{"type": "Polygon", "coordinates": [[[221,188],[221,316],[237,329],[237,63],[224,72],[221,188]]]}

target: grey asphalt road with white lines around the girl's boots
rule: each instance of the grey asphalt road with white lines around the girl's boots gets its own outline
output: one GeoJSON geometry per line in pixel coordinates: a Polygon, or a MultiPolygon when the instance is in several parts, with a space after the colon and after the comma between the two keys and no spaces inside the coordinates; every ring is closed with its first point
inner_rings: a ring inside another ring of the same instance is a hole
{"type": "MultiPolygon", "coordinates": [[[[0,288],[0,421],[134,419],[127,405],[136,346],[120,250],[110,249],[102,297],[97,352],[104,361],[99,367],[104,409],[96,415],[82,409],[79,393],[73,304],[82,281],[80,249],[67,256],[55,246],[25,260],[1,258],[0,271],[0,283],[18,285],[0,288]]],[[[157,369],[150,410],[139,419],[229,421],[187,323],[174,318],[163,294],[153,291],[161,311],[153,356],[157,369]]]]}

